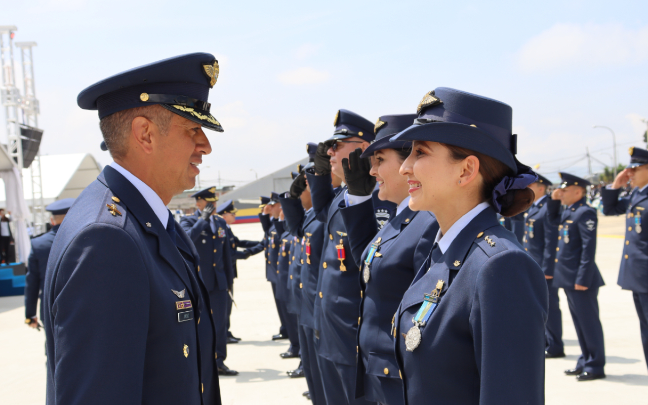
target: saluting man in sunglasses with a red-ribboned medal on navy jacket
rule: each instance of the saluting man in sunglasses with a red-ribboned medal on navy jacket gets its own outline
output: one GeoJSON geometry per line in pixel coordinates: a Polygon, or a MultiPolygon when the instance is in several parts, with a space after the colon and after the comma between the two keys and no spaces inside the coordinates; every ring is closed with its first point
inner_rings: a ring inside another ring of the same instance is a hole
{"type": "MultiPolygon", "coordinates": [[[[334,126],[333,136],[318,145],[314,167],[307,170],[313,209],[316,218],[325,224],[315,307],[318,361],[327,403],[363,404],[367,403],[365,399],[355,399],[356,334],[360,321],[357,315],[361,297],[360,270],[353,258],[362,255],[364,246],[357,252],[351,251],[340,203],[344,206],[348,198],[353,205],[353,198],[347,197],[346,186],[335,193],[329,176],[333,172],[344,179],[342,159],[348,159],[356,148],[367,148],[375,133],[370,121],[349,110],[336,113],[334,126]]],[[[395,204],[381,202],[376,196],[373,206],[376,224],[384,224],[394,208],[395,204]]]]}

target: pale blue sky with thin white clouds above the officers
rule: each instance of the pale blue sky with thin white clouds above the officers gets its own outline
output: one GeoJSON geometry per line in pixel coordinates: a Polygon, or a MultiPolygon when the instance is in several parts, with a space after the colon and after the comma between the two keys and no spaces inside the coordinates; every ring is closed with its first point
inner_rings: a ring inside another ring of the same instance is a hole
{"type": "MultiPolygon", "coordinates": [[[[413,113],[427,91],[454,87],[513,107],[518,158],[539,172],[587,174],[645,146],[646,1],[86,1],[2,0],[0,25],[36,41],[42,154],[98,145],[96,111],[76,95],[137,65],[188,52],[220,62],[209,101],[224,133],[202,182],[242,185],[305,156],[340,108],[369,121],[413,113]],[[594,170],[603,165],[592,162],[594,170]]],[[[6,139],[0,133],[0,139],[6,139]]],[[[3,142],[5,142],[3,140],[3,142]]]]}

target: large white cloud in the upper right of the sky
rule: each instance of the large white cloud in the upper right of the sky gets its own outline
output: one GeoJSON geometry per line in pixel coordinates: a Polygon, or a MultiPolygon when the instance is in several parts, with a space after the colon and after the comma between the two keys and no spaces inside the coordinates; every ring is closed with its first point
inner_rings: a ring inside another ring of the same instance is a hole
{"type": "Polygon", "coordinates": [[[648,60],[648,27],[619,24],[557,23],[525,43],[518,52],[524,71],[592,69],[648,60]]]}

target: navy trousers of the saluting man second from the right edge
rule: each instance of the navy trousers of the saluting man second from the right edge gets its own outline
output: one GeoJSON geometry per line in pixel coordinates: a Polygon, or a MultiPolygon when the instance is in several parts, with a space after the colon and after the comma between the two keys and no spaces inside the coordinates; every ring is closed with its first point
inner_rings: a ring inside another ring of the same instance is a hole
{"type": "Polygon", "coordinates": [[[581,345],[581,356],[576,364],[577,369],[592,374],[603,374],[605,367],[605,343],[603,327],[599,319],[599,288],[588,288],[585,291],[565,289],[567,303],[572,313],[573,326],[576,329],[578,343],[581,345]]]}

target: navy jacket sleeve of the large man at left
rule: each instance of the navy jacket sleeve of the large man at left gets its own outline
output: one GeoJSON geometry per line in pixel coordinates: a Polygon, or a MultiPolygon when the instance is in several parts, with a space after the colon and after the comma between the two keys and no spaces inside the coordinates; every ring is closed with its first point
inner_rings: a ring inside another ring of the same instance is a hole
{"type": "Polygon", "coordinates": [[[95,224],[52,265],[56,404],[141,404],[150,284],[139,246],[122,229],[95,224]]]}

